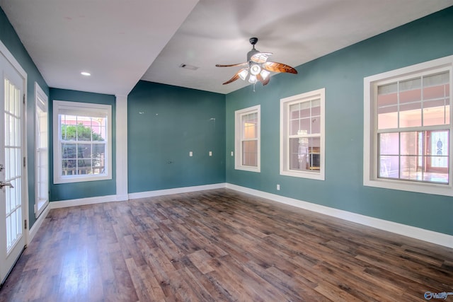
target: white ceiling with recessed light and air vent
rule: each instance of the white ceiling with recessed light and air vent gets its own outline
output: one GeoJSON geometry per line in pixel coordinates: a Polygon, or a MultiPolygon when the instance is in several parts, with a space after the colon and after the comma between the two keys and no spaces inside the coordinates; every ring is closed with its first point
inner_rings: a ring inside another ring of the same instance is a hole
{"type": "Polygon", "coordinates": [[[222,85],[241,67],[215,64],[245,62],[250,37],[258,37],[258,50],[273,52],[269,61],[295,67],[452,6],[453,0],[0,0],[0,5],[50,87],[127,95],[139,79],[230,93],[246,86],[241,80],[222,85]]]}

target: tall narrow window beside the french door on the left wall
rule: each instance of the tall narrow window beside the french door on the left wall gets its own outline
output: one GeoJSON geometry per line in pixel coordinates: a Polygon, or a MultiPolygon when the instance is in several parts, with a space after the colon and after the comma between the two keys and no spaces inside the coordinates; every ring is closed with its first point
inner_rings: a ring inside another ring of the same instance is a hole
{"type": "Polygon", "coordinates": [[[49,99],[35,82],[35,216],[49,203],[49,149],[47,108],[49,99]]]}

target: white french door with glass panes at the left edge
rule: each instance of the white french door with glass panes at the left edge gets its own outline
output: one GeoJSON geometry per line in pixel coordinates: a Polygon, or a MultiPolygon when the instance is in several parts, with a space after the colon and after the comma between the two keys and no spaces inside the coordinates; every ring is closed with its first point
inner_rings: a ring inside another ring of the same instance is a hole
{"type": "Polygon", "coordinates": [[[0,284],[25,247],[24,79],[0,52],[0,284]]]}

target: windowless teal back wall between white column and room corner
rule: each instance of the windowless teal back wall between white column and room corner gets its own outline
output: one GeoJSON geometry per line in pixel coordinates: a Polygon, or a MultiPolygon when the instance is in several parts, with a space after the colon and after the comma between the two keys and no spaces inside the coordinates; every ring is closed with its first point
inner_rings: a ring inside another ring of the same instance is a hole
{"type": "Polygon", "coordinates": [[[225,182],[224,95],[139,81],[127,106],[130,193],[225,182]]]}

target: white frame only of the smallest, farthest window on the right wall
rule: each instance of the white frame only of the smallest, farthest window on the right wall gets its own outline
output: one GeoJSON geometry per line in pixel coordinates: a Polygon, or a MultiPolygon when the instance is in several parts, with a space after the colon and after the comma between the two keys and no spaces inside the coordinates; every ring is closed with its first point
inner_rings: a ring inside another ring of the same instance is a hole
{"type": "Polygon", "coordinates": [[[245,170],[245,171],[251,171],[251,172],[257,172],[259,173],[261,170],[261,142],[260,142],[260,137],[261,137],[261,105],[256,105],[253,107],[249,108],[244,108],[241,110],[236,110],[234,112],[234,153],[236,154],[235,156],[235,161],[234,161],[234,168],[236,170],[245,170]],[[256,141],[257,141],[257,165],[252,166],[252,165],[243,165],[242,164],[242,124],[241,120],[243,115],[249,115],[251,113],[257,113],[257,124],[256,124],[256,141]]]}

